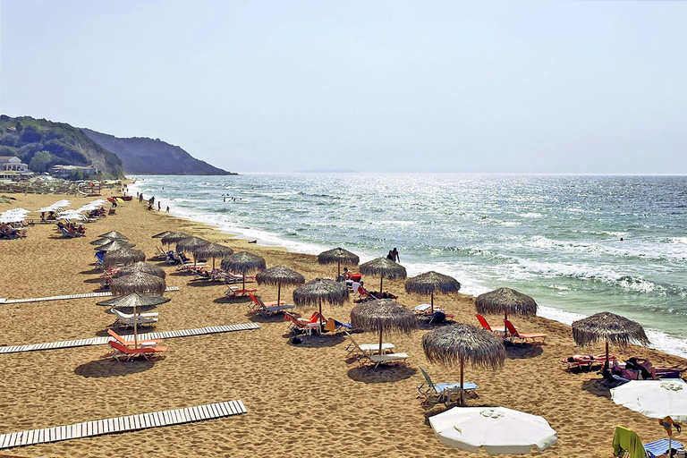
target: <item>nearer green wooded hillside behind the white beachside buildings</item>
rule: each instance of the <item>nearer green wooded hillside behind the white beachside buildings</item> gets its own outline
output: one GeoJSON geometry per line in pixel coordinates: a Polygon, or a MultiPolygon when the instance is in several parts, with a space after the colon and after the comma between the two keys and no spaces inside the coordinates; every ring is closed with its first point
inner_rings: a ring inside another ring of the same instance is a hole
{"type": "Polygon", "coordinates": [[[101,178],[123,178],[122,161],[67,123],[0,115],[0,156],[16,156],[36,172],[52,165],[95,165],[101,178]],[[40,153],[33,160],[36,153],[40,153]]]}

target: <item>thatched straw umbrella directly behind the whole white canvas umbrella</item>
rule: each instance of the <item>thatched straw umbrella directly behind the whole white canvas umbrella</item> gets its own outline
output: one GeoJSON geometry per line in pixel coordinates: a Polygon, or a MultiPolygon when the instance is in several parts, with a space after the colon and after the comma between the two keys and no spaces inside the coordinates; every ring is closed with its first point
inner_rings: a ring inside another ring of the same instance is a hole
{"type": "Polygon", "coordinates": [[[462,380],[465,362],[472,368],[501,369],[505,362],[504,341],[486,329],[458,323],[439,327],[422,337],[427,359],[445,366],[461,366],[461,403],[464,403],[462,380]]]}

